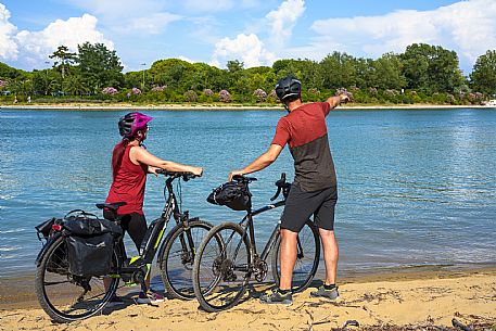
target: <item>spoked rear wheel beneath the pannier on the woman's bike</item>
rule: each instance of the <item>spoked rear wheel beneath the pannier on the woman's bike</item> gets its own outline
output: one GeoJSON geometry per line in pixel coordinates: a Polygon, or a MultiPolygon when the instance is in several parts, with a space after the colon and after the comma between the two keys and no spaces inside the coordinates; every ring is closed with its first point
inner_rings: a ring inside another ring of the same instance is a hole
{"type": "MultiPolygon", "coordinates": [[[[82,302],[85,297],[82,294],[79,294],[78,298],[69,306],[67,310],[62,310],[62,307],[64,307],[64,304],[62,301],[68,300],[68,295],[72,291],[74,292],[80,292],[82,290],[82,287],[80,284],[76,284],[77,278],[74,277],[68,272],[68,264],[66,264],[66,255],[65,257],[61,257],[64,255],[59,255],[55,256],[55,252],[60,254],[60,250],[66,250],[65,249],[65,240],[64,237],[59,237],[54,241],[52,241],[50,244],[50,247],[48,247],[47,253],[42,257],[39,266],[37,267],[36,270],[36,278],[35,278],[35,292],[36,296],[38,298],[38,302],[41,306],[41,308],[50,316],[50,318],[53,321],[56,322],[72,322],[76,320],[81,320],[85,318],[89,318],[96,314],[99,314],[105,305],[109,303],[109,301],[112,298],[112,296],[115,294],[115,291],[117,290],[118,285],[118,278],[111,278],[112,281],[109,285],[107,290],[104,290],[103,285],[103,278],[101,278],[101,284],[103,287],[103,293],[101,294],[102,298],[100,301],[94,301],[93,298],[97,297],[89,297],[91,302],[94,302],[94,307],[93,308],[85,308],[85,303],[82,302]],[[65,260],[64,260],[65,258],[65,260]],[[54,262],[56,260],[56,262],[54,262]],[[56,268],[56,271],[53,269],[53,264],[58,264],[59,268],[56,268]],[[49,267],[50,270],[47,269],[49,267]],[[47,279],[61,279],[60,281],[51,281],[49,282],[47,279]],[[64,281],[62,281],[64,280],[64,281]],[[51,293],[52,290],[51,288],[48,288],[49,285],[58,285],[58,284],[63,284],[61,287],[61,293],[54,293],[53,297],[52,295],[49,294],[51,293]],[[80,290],[78,290],[78,288],[80,290]],[[50,290],[50,291],[49,291],[50,290]],[[82,310],[82,313],[77,313],[82,310]]],[[[115,250],[113,251],[113,264],[117,266],[118,259],[117,259],[117,254],[115,250]]],[[[100,278],[94,278],[94,279],[100,279],[100,278]]],[[[96,282],[90,283],[93,280],[93,278],[88,279],[82,279],[80,278],[78,281],[87,281],[88,284],[96,287],[96,282]]],[[[90,292],[93,292],[90,290],[90,292]]],[[[96,293],[92,293],[96,294],[96,293]]]]}

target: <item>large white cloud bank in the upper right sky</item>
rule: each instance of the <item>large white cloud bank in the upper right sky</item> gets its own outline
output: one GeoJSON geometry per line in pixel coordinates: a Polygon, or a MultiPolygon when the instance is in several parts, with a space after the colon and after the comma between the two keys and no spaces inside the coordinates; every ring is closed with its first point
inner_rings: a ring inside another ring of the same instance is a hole
{"type": "Polygon", "coordinates": [[[403,52],[414,42],[455,50],[461,62],[473,64],[496,48],[496,1],[460,1],[432,11],[396,11],[382,16],[317,21],[310,46],[294,49],[302,58],[322,58],[333,51],[380,56],[403,52]]]}

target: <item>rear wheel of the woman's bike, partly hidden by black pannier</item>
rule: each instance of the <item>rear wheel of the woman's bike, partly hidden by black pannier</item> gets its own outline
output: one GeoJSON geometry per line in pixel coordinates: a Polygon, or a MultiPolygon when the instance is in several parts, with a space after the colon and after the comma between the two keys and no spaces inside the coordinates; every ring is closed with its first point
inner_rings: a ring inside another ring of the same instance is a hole
{"type": "MultiPolygon", "coordinates": [[[[113,252],[112,264],[117,266],[113,252]]],[[[68,271],[64,238],[55,239],[36,270],[35,291],[41,308],[56,322],[71,322],[100,313],[112,298],[118,278],[77,277],[68,271]]]]}

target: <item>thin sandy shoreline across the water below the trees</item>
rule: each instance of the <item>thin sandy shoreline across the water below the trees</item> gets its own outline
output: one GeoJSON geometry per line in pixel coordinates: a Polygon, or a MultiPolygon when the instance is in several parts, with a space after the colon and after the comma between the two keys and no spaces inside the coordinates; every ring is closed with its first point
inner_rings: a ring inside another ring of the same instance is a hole
{"type": "MultiPolygon", "coordinates": [[[[0,104],[0,110],[29,110],[29,111],[119,111],[119,110],[149,110],[149,111],[283,111],[282,105],[225,105],[225,104],[0,104]]],[[[341,105],[336,110],[452,110],[476,109],[493,110],[496,106],[486,105],[440,105],[440,104],[383,104],[383,105],[341,105]]]]}

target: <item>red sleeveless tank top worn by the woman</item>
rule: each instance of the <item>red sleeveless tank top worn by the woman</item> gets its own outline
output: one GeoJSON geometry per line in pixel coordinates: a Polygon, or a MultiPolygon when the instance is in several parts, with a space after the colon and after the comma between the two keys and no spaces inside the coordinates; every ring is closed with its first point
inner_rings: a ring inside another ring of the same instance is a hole
{"type": "Polygon", "coordinates": [[[125,202],[118,208],[119,215],[138,213],[143,214],[144,186],[147,182],[148,166],[136,165],[129,158],[130,145],[126,147],[120,167],[112,182],[105,202],[125,202]]]}

